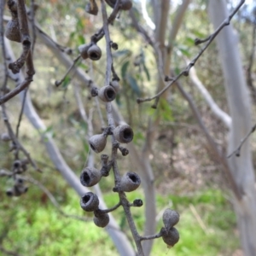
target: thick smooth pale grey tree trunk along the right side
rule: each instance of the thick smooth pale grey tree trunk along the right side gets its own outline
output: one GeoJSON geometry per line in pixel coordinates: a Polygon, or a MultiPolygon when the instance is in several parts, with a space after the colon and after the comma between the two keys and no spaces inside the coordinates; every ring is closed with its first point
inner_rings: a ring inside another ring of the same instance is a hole
{"type": "MultiPolygon", "coordinates": [[[[209,15],[216,29],[229,15],[224,0],[210,0],[209,15]]],[[[241,139],[252,129],[251,104],[247,84],[242,71],[238,38],[232,26],[224,27],[217,37],[218,53],[221,60],[225,92],[230,108],[232,124],[229,135],[228,153],[234,151],[241,139]]],[[[244,255],[256,255],[256,189],[249,139],[242,145],[241,156],[235,154],[229,159],[229,166],[241,191],[241,198],[235,196],[235,210],[241,247],[244,255]]]]}

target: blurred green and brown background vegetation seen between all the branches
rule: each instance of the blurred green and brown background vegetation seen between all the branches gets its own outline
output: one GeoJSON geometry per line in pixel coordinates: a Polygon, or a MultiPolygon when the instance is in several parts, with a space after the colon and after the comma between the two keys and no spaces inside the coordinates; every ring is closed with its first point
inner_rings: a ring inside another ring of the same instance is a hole
{"type": "MultiPolygon", "coordinates": [[[[28,2],[28,1],[27,1],[28,2]]],[[[172,1],[169,25],[177,10],[177,1],[172,1]]],[[[90,41],[90,36],[102,26],[101,15],[91,17],[84,12],[84,1],[47,0],[39,3],[37,20],[44,32],[61,45],[73,49],[72,58],[78,55],[78,46],[90,41]]],[[[140,14],[140,1],[134,1],[137,8],[137,19],[146,27],[140,14]]],[[[148,14],[151,15],[148,1],[148,14]]],[[[230,1],[230,9],[232,9],[230,1]]],[[[232,24],[240,38],[241,55],[245,74],[249,56],[253,47],[253,23],[248,20],[252,15],[251,6],[247,6],[236,15],[232,24]]],[[[108,9],[108,12],[110,9],[108,9]]],[[[8,12],[6,12],[8,14],[8,12]]],[[[195,0],[183,20],[178,32],[177,41],[172,54],[172,68],[181,71],[185,67],[183,56],[193,58],[200,50],[194,45],[195,38],[205,38],[212,32],[207,18],[207,1],[195,0]]],[[[151,103],[137,105],[137,97],[153,95],[156,89],[157,67],[153,50],[144,42],[131,26],[127,13],[121,13],[119,19],[110,26],[113,42],[119,49],[113,51],[116,72],[121,79],[121,91],[116,99],[119,111],[135,131],[134,143],[137,148],[143,145],[146,136],[148,119],[154,121],[161,117],[158,137],[150,154],[157,189],[158,228],[161,227],[161,211],[173,207],[181,214],[178,224],[180,241],[171,249],[165,243],[156,240],[152,255],[241,255],[236,231],[236,217],[231,206],[230,192],[226,189],[226,180],[218,164],[207,154],[207,142],[189,109],[175,87],[169,91],[167,100],[161,100],[159,108],[150,108],[151,103]]],[[[149,32],[150,33],[150,32],[149,32]]],[[[81,61],[79,67],[88,73],[96,84],[104,81],[106,62],[105,40],[99,43],[102,47],[101,61],[81,61]]],[[[19,53],[18,45],[13,44],[19,53]]],[[[30,86],[32,102],[40,117],[44,120],[48,132],[55,138],[68,165],[79,176],[88,157],[89,147],[85,139],[87,126],[79,116],[73,86],[76,83],[73,74],[55,88],[55,80],[61,79],[66,69],[52,55],[47,47],[37,40],[34,51],[36,75],[30,86]]],[[[196,70],[202,83],[212,94],[220,108],[228,112],[224,96],[224,80],[216,45],[211,44],[196,64],[196,70]]],[[[253,66],[253,75],[256,69],[253,66]]],[[[208,130],[218,143],[218,147],[226,152],[226,129],[207,107],[204,99],[187,78],[181,79],[183,88],[193,96],[200,109],[201,117],[208,130]]],[[[14,87],[15,84],[9,84],[14,87]]],[[[81,84],[84,108],[89,111],[95,108],[88,88],[81,84]]],[[[13,125],[17,123],[20,102],[15,97],[7,103],[9,118],[13,125]]],[[[102,113],[104,106],[101,104],[102,113]]],[[[255,107],[253,107],[253,112],[255,107]]],[[[105,118],[105,117],[104,117],[105,118]]],[[[101,122],[93,112],[95,133],[101,131],[101,122]]],[[[5,131],[3,122],[0,131],[5,131]]],[[[26,118],[20,127],[20,140],[37,161],[43,173],[28,170],[29,175],[55,195],[61,210],[67,214],[87,216],[89,221],[83,223],[73,218],[66,218],[51,204],[47,195],[37,186],[30,184],[26,195],[20,198],[8,198],[5,189],[9,188],[9,179],[0,179],[0,255],[9,255],[8,251],[17,255],[118,255],[113,242],[104,230],[96,228],[90,221],[91,216],[84,214],[79,207],[79,197],[71,189],[60,173],[51,164],[44,150],[44,144],[26,118]],[[2,251],[1,251],[2,250],[2,251]]],[[[253,149],[255,144],[252,144],[253,149]]],[[[105,149],[109,152],[109,148],[105,149]]],[[[255,150],[253,150],[255,152],[255,150]]],[[[103,152],[104,153],[104,152],[103,152]]],[[[253,153],[254,158],[255,153],[253,153]]],[[[9,169],[14,158],[9,153],[9,145],[0,142],[0,167],[9,169]]],[[[255,161],[254,161],[255,162],[255,161]]],[[[96,166],[100,166],[96,156],[96,166]]],[[[121,172],[134,171],[129,158],[119,157],[121,172]]],[[[113,195],[113,177],[101,183],[104,199],[108,207],[117,202],[113,195]]],[[[143,190],[129,194],[131,200],[143,199],[143,190]]],[[[132,209],[138,229],[143,232],[143,207],[132,209]]],[[[120,228],[131,238],[121,209],[113,212],[120,228]]]]}

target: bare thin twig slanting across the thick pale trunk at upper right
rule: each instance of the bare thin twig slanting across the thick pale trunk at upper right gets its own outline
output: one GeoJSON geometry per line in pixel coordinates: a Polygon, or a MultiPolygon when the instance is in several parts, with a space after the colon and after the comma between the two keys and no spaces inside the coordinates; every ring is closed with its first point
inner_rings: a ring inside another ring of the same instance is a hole
{"type": "Polygon", "coordinates": [[[201,57],[201,55],[204,53],[204,51],[208,48],[208,46],[212,43],[213,39],[217,37],[218,33],[221,32],[221,30],[224,28],[224,26],[230,25],[230,20],[233,18],[233,16],[236,14],[236,12],[241,8],[241,5],[245,3],[245,0],[241,0],[241,2],[236,6],[236,9],[233,10],[233,12],[227,17],[220,26],[216,29],[215,32],[212,33],[208,38],[200,40],[196,39],[195,44],[201,44],[203,42],[207,42],[207,44],[201,49],[198,55],[195,56],[195,58],[189,62],[189,65],[181,72],[179,73],[175,78],[172,79],[172,82],[166,85],[165,88],[160,90],[155,96],[148,97],[148,98],[138,98],[137,103],[142,103],[142,102],[150,102],[154,100],[155,98],[158,98],[161,96],[166,90],[168,90],[172,84],[174,84],[177,79],[179,79],[181,76],[188,76],[189,75],[189,70],[191,67],[195,66],[195,62],[198,61],[198,59],[201,57]]]}

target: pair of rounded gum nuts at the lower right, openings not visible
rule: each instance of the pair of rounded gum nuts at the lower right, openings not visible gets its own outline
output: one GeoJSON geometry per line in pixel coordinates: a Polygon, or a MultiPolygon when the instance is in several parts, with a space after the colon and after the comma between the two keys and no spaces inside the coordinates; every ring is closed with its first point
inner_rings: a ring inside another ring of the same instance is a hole
{"type": "Polygon", "coordinates": [[[177,229],[174,228],[179,221],[179,214],[172,209],[166,209],[163,214],[163,223],[165,225],[161,232],[163,234],[163,241],[169,246],[173,247],[179,240],[177,229]]]}

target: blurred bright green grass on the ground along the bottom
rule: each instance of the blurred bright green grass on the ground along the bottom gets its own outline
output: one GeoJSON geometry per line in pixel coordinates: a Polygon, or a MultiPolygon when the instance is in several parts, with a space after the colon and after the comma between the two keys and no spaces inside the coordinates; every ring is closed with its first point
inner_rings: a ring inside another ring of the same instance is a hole
{"type": "MultiPolygon", "coordinates": [[[[2,188],[3,179],[0,181],[2,188]]],[[[58,185],[58,193],[65,193],[59,197],[61,209],[74,215],[84,215],[79,207],[79,197],[73,189],[65,183],[58,185]]],[[[130,201],[141,198],[142,191],[128,194],[130,201]]],[[[3,236],[2,245],[8,250],[26,256],[43,255],[93,255],[102,253],[118,255],[113,242],[105,230],[97,228],[92,222],[81,222],[73,218],[65,218],[56,211],[55,207],[46,199],[44,194],[32,187],[28,193],[20,198],[7,198],[1,192],[3,201],[0,202],[0,234],[3,236]]],[[[108,207],[113,207],[118,201],[117,195],[104,195],[108,207]]],[[[168,204],[180,212],[180,222],[177,230],[180,241],[175,247],[167,248],[160,239],[154,241],[151,255],[176,256],[215,256],[231,255],[239,247],[236,229],[236,217],[230,204],[224,199],[220,190],[208,189],[196,195],[189,196],[157,196],[157,211],[160,212],[168,204]],[[191,210],[195,207],[196,215],[200,216],[203,227],[191,210]],[[193,208],[192,207],[192,208],[193,208]]],[[[131,208],[137,228],[143,234],[144,207],[131,208]]],[[[131,236],[121,208],[113,212],[121,229],[131,236]]],[[[91,215],[87,215],[91,218],[91,215]]],[[[162,226],[160,218],[158,230],[162,226]]]]}

